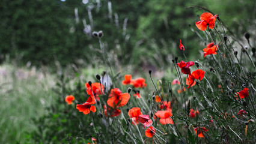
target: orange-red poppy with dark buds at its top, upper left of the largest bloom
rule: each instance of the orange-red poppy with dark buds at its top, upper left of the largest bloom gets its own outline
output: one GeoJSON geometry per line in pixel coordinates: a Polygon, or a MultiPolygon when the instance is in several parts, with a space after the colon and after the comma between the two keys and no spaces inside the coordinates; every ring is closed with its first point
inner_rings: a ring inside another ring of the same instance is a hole
{"type": "Polygon", "coordinates": [[[104,86],[102,84],[100,85],[100,83],[91,83],[91,86],[89,83],[85,83],[85,87],[87,88],[87,94],[94,95],[96,100],[100,100],[99,95],[104,94],[104,86]]]}

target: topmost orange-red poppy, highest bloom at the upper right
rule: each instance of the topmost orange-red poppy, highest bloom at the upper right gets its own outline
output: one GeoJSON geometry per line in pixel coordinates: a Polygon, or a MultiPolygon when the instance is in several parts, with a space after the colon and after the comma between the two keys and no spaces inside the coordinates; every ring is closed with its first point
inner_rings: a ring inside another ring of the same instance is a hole
{"type": "Polygon", "coordinates": [[[216,18],[217,18],[217,14],[213,16],[213,14],[211,13],[203,13],[200,16],[200,21],[196,22],[195,25],[201,31],[206,31],[207,26],[209,26],[210,29],[213,29],[215,26],[216,18]]]}

